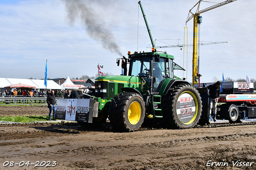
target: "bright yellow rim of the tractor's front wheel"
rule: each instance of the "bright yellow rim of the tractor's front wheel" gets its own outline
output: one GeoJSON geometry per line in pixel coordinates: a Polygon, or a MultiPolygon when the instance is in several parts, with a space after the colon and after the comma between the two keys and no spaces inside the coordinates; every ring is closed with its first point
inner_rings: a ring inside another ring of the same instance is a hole
{"type": "Polygon", "coordinates": [[[128,109],[128,121],[132,125],[136,125],[140,121],[141,117],[141,107],[140,103],[137,101],[132,102],[128,109]]]}

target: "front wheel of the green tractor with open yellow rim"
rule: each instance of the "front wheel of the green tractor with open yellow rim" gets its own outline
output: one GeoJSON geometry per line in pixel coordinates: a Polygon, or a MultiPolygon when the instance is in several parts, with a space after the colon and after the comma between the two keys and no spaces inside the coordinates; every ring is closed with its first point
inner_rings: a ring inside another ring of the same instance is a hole
{"type": "Polygon", "coordinates": [[[110,123],[115,130],[133,132],[141,127],[145,117],[142,97],[137,93],[118,93],[109,108],[110,123]]]}

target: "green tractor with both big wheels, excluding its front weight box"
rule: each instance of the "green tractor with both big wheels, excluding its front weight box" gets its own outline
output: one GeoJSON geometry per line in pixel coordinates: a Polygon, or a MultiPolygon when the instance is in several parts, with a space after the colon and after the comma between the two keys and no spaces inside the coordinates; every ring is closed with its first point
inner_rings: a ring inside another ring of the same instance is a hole
{"type": "Polygon", "coordinates": [[[140,128],[144,119],[154,118],[163,118],[168,127],[192,128],[198,123],[200,94],[187,81],[174,78],[174,65],[178,65],[173,59],[156,51],[128,53],[124,75],[95,80],[95,97],[111,99],[106,110],[113,128],[130,132],[140,128]]]}

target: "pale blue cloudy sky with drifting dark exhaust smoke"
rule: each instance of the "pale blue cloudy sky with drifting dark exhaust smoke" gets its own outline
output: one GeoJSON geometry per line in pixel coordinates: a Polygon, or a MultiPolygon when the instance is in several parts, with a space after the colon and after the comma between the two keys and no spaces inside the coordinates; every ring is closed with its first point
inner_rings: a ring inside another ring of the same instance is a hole
{"type": "MultiPolygon", "coordinates": [[[[223,2],[224,0],[214,0],[223,2]]],[[[141,0],[156,46],[184,42],[189,10],[198,0],[141,0]]],[[[216,3],[201,2],[200,10],[216,3]]],[[[200,46],[201,82],[256,79],[256,1],[237,0],[201,14],[200,40],[228,42],[200,46]]],[[[194,10],[195,11],[195,10],[194,10]]],[[[192,43],[193,22],[187,23],[192,43]]],[[[0,77],[48,78],[120,75],[116,58],[131,51],[150,51],[150,38],[138,0],[0,0],[0,77]],[[138,42],[137,42],[138,40],[138,42]]],[[[178,77],[192,82],[192,47],[164,48],[188,67],[178,77]],[[188,66],[186,57],[188,56],[188,66]]]]}

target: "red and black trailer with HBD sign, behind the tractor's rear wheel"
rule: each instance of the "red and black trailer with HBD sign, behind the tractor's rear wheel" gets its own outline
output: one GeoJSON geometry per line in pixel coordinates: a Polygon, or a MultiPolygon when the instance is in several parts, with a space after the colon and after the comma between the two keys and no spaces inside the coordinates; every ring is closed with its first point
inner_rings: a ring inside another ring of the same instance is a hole
{"type": "Polygon", "coordinates": [[[210,84],[212,83],[201,83],[202,88],[198,88],[203,103],[201,122],[256,122],[256,93],[253,91],[253,83],[222,83],[217,105],[217,121],[213,120],[208,111],[209,95],[206,87],[210,84]]]}

